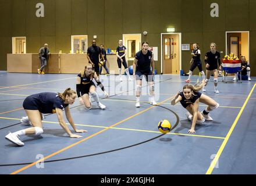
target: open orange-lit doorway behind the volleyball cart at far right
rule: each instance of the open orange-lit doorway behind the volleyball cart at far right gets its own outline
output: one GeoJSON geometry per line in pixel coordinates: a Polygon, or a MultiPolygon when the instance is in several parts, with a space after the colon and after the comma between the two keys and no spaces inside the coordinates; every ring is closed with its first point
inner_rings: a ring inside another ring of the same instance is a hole
{"type": "Polygon", "coordinates": [[[226,31],[226,55],[234,53],[234,56],[241,59],[246,56],[250,61],[250,34],[249,31],[226,31]]]}

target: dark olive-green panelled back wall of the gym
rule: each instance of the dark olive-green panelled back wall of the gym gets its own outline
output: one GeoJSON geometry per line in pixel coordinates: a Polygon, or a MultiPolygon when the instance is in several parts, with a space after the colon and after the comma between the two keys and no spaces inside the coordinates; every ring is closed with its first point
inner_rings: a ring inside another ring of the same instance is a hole
{"type": "MultiPolygon", "coordinates": [[[[161,33],[175,27],[182,44],[197,42],[203,54],[215,42],[225,55],[226,31],[250,31],[251,74],[256,76],[255,0],[0,0],[0,70],[6,70],[6,53],[12,53],[12,37],[27,37],[27,53],[37,53],[47,42],[52,53],[68,53],[70,35],[88,35],[88,44],[115,49],[122,34],[142,35],[142,41],[158,47],[156,69],[161,71],[161,33]],[[36,17],[35,5],[44,3],[45,17],[36,17]],[[211,17],[211,3],[218,3],[219,17],[211,17]]],[[[182,51],[182,69],[190,68],[190,51],[182,51]]],[[[129,62],[130,63],[130,62],[129,62]]],[[[195,74],[198,70],[195,70],[195,74]]]]}

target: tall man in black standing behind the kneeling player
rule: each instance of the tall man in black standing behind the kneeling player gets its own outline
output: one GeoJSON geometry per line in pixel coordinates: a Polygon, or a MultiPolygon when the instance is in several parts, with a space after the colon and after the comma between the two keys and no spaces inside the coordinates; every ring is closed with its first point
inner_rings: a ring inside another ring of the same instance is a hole
{"type": "MultiPolygon", "coordinates": [[[[91,47],[89,47],[87,49],[87,59],[88,62],[93,65],[93,70],[97,73],[97,75],[99,76],[99,59],[104,59],[104,55],[102,55],[101,53],[101,48],[99,48],[96,45],[96,41],[93,40],[91,42],[91,47]]],[[[105,63],[105,59],[104,59],[104,63],[105,63]]]]}

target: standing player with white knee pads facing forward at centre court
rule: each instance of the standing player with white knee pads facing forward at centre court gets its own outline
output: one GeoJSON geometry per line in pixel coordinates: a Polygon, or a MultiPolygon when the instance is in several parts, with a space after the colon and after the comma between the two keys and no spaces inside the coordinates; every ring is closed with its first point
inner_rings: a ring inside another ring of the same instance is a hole
{"type": "Polygon", "coordinates": [[[153,76],[155,74],[155,63],[154,56],[151,51],[148,50],[148,42],[143,42],[142,50],[136,53],[133,62],[133,76],[136,78],[136,107],[140,107],[140,92],[142,88],[142,79],[145,76],[147,84],[150,87],[150,98],[149,102],[151,105],[157,105],[154,96],[154,80],[153,76]],[[152,71],[150,69],[152,66],[152,71]]]}

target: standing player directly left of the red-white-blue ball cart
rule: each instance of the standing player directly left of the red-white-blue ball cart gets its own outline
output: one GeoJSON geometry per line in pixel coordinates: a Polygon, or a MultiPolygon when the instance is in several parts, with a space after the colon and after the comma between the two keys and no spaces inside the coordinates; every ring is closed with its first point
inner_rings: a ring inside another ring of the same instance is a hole
{"type": "MultiPolygon", "coordinates": [[[[214,73],[214,92],[219,94],[217,85],[218,85],[218,69],[221,70],[221,53],[216,51],[216,44],[214,42],[211,43],[211,51],[205,53],[205,67],[206,67],[206,80],[205,87],[209,81],[211,71],[214,73]],[[218,68],[219,63],[219,68],[218,68]]],[[[206,91],[205,87],[202,89],[203,92],[206,91]]]]}

